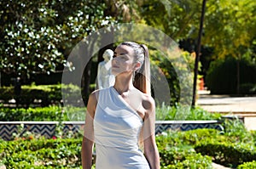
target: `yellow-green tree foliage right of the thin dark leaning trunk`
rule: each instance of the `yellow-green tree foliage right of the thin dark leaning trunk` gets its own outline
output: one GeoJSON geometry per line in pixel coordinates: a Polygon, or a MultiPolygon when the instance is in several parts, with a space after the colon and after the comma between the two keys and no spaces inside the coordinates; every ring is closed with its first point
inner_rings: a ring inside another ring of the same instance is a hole
{"type": "Polygon", "coordinates": [[[239,58],[255,39],[255,2],[253,0],[207,1],[203,44],[214,48],[216,58],[239,58]]]}

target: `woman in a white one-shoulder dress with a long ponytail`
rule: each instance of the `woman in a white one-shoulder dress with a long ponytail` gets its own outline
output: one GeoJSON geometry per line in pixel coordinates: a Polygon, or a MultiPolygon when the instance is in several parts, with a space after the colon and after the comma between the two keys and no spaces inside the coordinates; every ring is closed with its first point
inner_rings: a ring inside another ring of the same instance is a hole
{"type": "Polygon", "coordinates": [[[91,167],[96,144],[96,169],[159,169],[154,139],[154,99],[150,96],[148,48],[122,42],[115,49],[113,87],[90,94],[82,144],[83,168],[91,167]],[[143,144],[143,151],[139,145],[143,144]]]}

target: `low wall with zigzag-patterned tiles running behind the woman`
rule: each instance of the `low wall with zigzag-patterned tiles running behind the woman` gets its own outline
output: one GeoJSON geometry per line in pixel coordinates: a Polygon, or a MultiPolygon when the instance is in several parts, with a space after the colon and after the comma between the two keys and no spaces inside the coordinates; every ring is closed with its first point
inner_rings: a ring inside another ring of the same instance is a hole
{"type": "MultiPolygon", "coordinates": [[[[24,125],[20,135],[26,131],[39,134],[45,138],[55,136],[55,130],[61,125],[63,133],[80,132],[84,127],[84,121],[0,121],[0,138],[4,140],[13,139],[13,133],[18,132],[21,124],[24,125]]],[[[221,121],[155,121],[155,133],[166,130],[188,131],[196,128],[215,128],[223,130],[221,121]]]]}

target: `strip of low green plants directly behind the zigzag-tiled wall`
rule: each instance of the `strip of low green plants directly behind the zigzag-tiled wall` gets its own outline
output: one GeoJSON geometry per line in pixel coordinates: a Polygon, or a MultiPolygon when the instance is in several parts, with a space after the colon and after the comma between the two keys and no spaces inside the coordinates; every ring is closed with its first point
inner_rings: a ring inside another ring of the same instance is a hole
{"type": "MultiPolygon", "coordinates": [[[[6,108],[0,106],[0,121],[84,121],[85,108],[49,106],[36,108],[6,108]]],[[[201,108],[184,110],[181,107],[156,108],[156,120],[220,120],[218,113],[209,113],[201,108]],[[181,115],[183,112],[183,115],[181,115]]]]}

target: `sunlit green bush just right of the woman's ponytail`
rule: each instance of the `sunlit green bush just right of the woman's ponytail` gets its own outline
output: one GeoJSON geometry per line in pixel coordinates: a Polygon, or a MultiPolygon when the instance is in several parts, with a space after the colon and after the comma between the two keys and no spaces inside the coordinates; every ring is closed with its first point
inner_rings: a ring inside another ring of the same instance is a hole
{"type": "MultiPolygon", "coordinates": [[[[151,52],[151,61],[153,63],[153,67],[157,65],[156,69],[161,71],[164,75],[165,79],[159,79],[160,82],[167,81],[170,89],[170,104],[175,105],[178,102],[182,102],[183,104],[190,104],[191,99],[191,88],[192,88],[192,72],[193,69],[193,58],[187,52],[182,52],[178,55],[177,58],[175,56],[166,56],[160,53],[160,51],[152,51],[151,52]]],[[[158,74],[155,74],[156,71],[152,72],[153,78],[160,78],[158,74]]],[[[166,94],[166,96],[168,96],[166,94]]],[[[166,97],[162,95],[161,97],[166,97]]],[[[167,100],[167,99],[163,99],[167,100]]],[[[158,102],[159,100],[156,100],[158,102]]],[[[162,104],[162,103],[159,103],[162,104]]],[[[169,104],[169,103],[166,103],[169,104]]]]}

